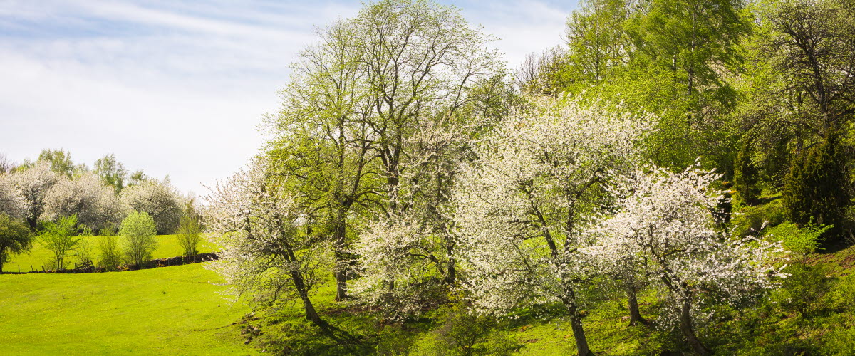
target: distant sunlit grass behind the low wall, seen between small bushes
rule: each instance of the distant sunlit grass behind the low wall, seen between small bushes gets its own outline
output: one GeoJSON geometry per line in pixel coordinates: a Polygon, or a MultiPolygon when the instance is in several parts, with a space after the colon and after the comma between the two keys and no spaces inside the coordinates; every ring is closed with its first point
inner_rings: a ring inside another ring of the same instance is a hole
{"type": "MultiPolygon", "coordinates": [[[[91,236],[84,237],[91,239],[91,247],[92,253],[95,255],[95,260],[97,260],[98,253],[98,239],[100,236],[91,236]]],[[[120,237],[121,238],[121,237],[120,237]]],[[[206,242],[204,239],[199,243],[199,252],[211,252],[213,248],[211,248],[209,242],[206,242]]],[[[74,251],[70,251],[70,257],[66,257],[66,262],[68,263],[69,268],[74,267],[74,263],[78,263],[79,260],[77,256],[74,255],[74,251]]],[[[184,250],[181,249],[181,246],[178,244],[178,239],[175,235],[161,235],[157,236],[157,249],[153,254],[153,258],[162,259],[166,257],[174,257],[180,256],[184,254],[184,250]]],[[[41,242],[38,241],[38,237],[36,241],[33,243],[32,250],[28,254],[14,254],[11,259],[3,264],[4,272],[16,272],[16,271],[32,271],[41,270],[42,266],[49,266],[48,263],[50,259],[53,257],[53,254],[42,246],[41,242]],[[19,270],[20,268],[20,270],[19,270]]]]}

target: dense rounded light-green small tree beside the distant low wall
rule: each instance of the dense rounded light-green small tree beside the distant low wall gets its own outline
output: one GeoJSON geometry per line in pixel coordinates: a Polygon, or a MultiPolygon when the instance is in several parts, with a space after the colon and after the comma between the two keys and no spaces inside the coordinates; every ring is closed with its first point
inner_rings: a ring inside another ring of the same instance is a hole
{"type": "Polygon", "coordinates": [[[119,235],[124,240],[125,257],[129,264],[142,266],[157,248],[155,220],[148,213],[133,212],[121,222],[119,235]]]}

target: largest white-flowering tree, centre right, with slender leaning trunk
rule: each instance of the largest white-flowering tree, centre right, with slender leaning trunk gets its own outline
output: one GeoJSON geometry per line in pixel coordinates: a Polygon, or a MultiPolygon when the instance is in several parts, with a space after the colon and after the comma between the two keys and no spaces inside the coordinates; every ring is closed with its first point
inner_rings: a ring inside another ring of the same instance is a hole
{"type": "Polygon", "coordinates": [[[561,302],[581,355],[591,352],[576,290],[590,271],[579,231],[607,202],[610,172],[631,166],[654,121],[619,111],[534,98],[480,140],[479,160],[463,166],[455,196],[475,306],[503,313],[561,302]]]}

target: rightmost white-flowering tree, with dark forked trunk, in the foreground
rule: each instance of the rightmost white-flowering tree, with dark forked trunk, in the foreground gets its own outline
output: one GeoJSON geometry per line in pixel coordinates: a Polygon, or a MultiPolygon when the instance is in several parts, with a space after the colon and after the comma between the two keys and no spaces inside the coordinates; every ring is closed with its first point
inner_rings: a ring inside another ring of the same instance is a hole
{"type": "Polygon", "coordinates": [[[598,225],[599,238],[582,250],[604,265],[637,266],[657,281],[664,315],[671,317],[666,321],[679,325],[695,352],[709,354],[694,333],[700,306],[735,305],[774,287],[782,267],[771,261],[781,247],[716,231],[722,191],[710,184],[720,175],[698,167],[647,171],[619,180],[613,189],[618,213],[598,225]]]}

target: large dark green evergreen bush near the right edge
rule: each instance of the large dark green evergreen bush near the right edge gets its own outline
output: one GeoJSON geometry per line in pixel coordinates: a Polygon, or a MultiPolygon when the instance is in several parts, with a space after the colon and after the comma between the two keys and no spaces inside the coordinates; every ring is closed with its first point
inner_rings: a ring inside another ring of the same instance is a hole
{"type": "Polygon", "coordinates": [[[832,225],[824,246],[840,244],[843,208],[849,203],[844,184],[846,175],[838,154],[839,139],[829,137],[820,145],[793,161],[785,179],[783,200],[787,218],[804,227],[810,224],[832,225]]]}

